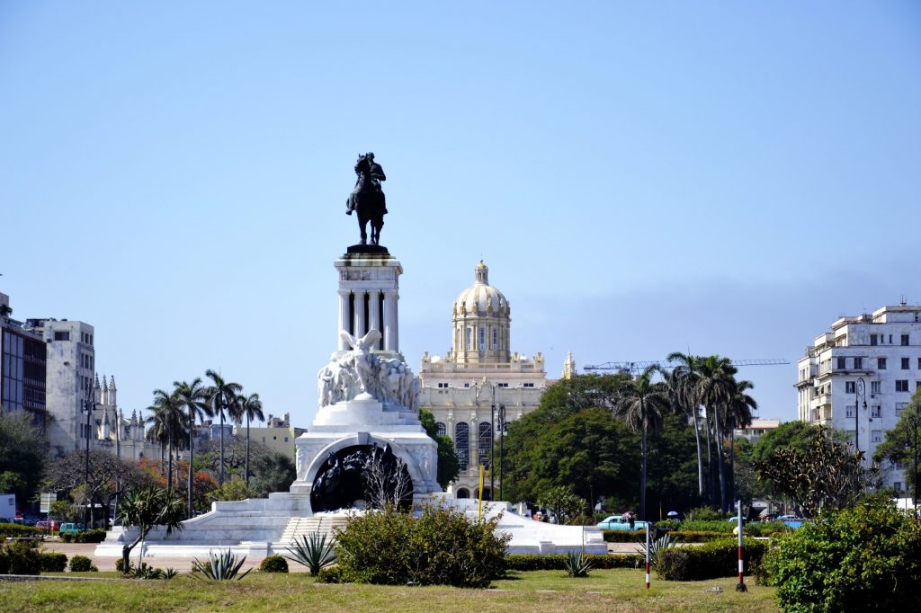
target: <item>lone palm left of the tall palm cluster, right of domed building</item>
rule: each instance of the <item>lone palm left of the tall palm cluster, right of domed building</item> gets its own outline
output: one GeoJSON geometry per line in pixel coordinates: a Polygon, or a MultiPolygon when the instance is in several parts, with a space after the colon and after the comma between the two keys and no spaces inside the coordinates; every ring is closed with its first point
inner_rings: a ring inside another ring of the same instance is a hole
{"type": "Polygon", "coordinates": [[[640,435],[639,516],[646,519],[647,436],[662,430],[662,414],[669,410],[669,388],[664,383],[652,383],[656,373],[665,376],[653,364],[640,376],[621,388],[614,400],[614,414],[624,419],[627,428],[640,435]]]}

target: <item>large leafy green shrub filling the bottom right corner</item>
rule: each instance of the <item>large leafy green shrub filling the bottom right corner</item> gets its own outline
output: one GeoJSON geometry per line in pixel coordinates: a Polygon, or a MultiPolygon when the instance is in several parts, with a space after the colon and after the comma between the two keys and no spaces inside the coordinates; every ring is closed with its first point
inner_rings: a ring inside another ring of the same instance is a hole
{"type": "Polygon", "coordinates": [[[921,523],[891,503],[861,503],[779,539],[765,565],[786,611],[915,610],[921,523]]]}

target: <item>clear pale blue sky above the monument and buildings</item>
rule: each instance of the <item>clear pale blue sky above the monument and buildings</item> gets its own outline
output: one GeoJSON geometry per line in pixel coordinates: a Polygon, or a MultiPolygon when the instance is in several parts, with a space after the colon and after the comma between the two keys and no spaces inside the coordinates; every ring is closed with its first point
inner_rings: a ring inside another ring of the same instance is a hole
{"type": "Polygon", "coordinates": [[[0,291],[128,411],[219,368],[309,423],[365,151],[415,370],[481,257],[551,376],[786,358],[741,371],[785,421],[835,318],[921,301],[915,2],[326,4],[0,4],[0,291]]]}

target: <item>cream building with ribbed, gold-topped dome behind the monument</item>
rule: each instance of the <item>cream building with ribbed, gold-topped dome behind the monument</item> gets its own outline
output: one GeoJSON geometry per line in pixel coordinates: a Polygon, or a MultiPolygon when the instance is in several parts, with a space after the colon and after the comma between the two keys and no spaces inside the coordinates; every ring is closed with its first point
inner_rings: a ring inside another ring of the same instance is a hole
{"type": "Polygon", "coordinates": [[[449,492],[480,497],[483,465],[483,497],[499,500],[503,470],[493,432],[501,431],[503,417],[511,422],[537,408],[547,376],[541,353],[525,358],[511,351],[511,307],[489,284],[483,260],[451,309],[451,350],[443,357],[423,355],[419,384],[419,406],[435,415],[438,433],[449,435],[461,463],[449,492]]]}

